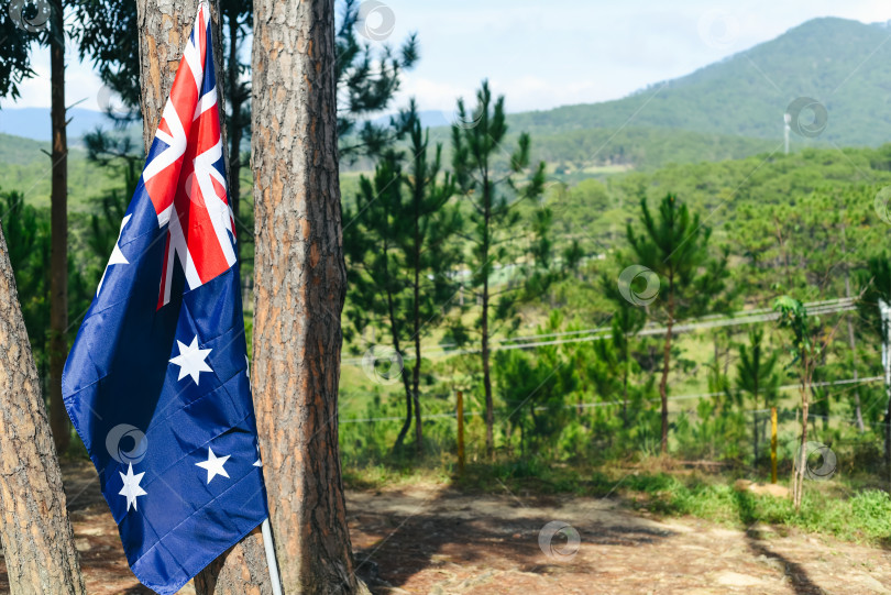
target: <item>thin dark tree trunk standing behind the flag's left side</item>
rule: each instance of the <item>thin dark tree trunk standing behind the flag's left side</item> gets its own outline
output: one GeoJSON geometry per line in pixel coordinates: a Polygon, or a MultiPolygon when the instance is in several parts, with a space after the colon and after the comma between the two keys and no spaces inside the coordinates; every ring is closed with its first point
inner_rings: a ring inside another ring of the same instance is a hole
{"type": "Polygon", "coordinates": [[[65,122],[65,21],[62,0],[53,0],[50,27],[50,96],[53,123],[53,176],[50,224],[50,425],[56,451],[72,441],[62,400],[62,371],[68,355],[68,136],[65,122]]]}

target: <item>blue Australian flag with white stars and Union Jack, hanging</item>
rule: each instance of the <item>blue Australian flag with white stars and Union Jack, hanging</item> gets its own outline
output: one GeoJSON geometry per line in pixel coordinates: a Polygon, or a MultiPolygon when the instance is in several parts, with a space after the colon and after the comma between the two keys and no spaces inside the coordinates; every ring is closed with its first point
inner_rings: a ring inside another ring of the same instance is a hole
{"type": "Polygon", "coordinates": [[[176,593],[267,516],[200,3],[62,378],[130,568],[176,593]]]}

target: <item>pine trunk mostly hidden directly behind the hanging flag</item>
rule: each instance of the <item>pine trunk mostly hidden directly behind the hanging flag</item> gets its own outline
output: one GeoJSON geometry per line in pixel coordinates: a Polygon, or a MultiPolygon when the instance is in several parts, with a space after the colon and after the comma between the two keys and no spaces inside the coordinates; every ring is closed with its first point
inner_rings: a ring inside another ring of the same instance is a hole
{"type": "MultiPolygon", "coordinates": [[[[161,121],[164,106],[170,93],[176,69],[183,56],[183,48],[195,25],[198,2],[189,0],[138,0],[140,33],[140,80],[142,93],[143,128],[142,137],[145,151],[152,146],[152,139],[161,121]]],[[[222,43],[220,36],[220,13],[216,2],[211,4],[213,27],[213,59],[217,69],[218,101],[224,104],[222,84],[222,43]]],[[[220,110],[223,155],[226,151],[226,121],[220,110]]],[[[226,159],[228,163],[228,159],[226,159]]],[[[228,178],[229,179],[229,178],[228,178]]],[[[239,544],[220,555],[195,579],[196,592],[199,595],[272,593],[263,539],[260,529],[254,530],[239,544]]]]}

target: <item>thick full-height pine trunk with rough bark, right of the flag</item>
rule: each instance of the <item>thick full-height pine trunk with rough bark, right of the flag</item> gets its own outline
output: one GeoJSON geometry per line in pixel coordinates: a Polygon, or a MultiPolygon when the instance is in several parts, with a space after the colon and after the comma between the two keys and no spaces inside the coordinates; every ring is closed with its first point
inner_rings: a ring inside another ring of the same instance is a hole
{"type": "Polygon", "coordinates": [[[345,296],[333,0],[255,0],[252,381],[285,593],[367,593],[338,447],[345,296]]]}

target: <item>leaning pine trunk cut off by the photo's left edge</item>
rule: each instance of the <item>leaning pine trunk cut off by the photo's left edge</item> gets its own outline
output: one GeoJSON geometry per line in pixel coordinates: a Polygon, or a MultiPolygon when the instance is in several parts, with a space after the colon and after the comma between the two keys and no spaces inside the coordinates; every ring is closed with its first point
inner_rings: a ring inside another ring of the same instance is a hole
{"type": "Polygon", "coordinates": [[[81,595],[41,383],[0,230],[0,542],[13,595],[81,595]]]}

